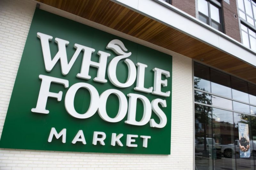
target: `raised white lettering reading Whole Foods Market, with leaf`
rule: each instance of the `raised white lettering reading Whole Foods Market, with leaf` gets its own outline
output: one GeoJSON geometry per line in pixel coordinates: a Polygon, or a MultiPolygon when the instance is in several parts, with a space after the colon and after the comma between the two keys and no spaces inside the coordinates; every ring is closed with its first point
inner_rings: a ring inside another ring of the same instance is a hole
{"type": "MultiPolygon", "coordinates": [[[[67,40],[60,39],[60,38],[55,38],[55,42],[58,44],[59,51],[56,53],[56,55],[52,59],[49,41],[52,41],[53,37],[40,32],[37,33],[37,37],[41,41],[42,52],[44,57],[44,65],[45,65],[45,70],[47,72],[51,72],[53,67],[60,60],[61,73],[63,75],[67,75],[71,67],[73,66],[74,62],[76,61],[78,55],[81,53],[81,51],[83,51],[81,71],[76,75],[76,77],[89,80],[91,79],[91,76],[89,75],[90,67],[96,67],[98,69],[97,76],[93,79],[93,81],[100,82],[100,83],[107,83],[108,80],[105,79],[105,76],[106,76],[105,74],[107,72],[109,81],[118,88],[130,87],[136,81],[136,87],[134,88],[134,90],[136,91],[141,91],[144,93],[152,93],[157,96],[164,96],[164,97],[170,96],[170,91],[167,91],[167,92],[161,91],[162,86],[163,87],[167,86],[167,79],[162,80],[162,75],[168,78],[170,77],[170,72],[160,68],[154,68],[153,69],[154,87],[145,88],[144,87],[145,68],[148,66],[146,64],[139,63],[139,62],[134,64],[132,60],[128,58],[129,56],[131,56],[132,53],[131,52],[128,53],[127,52],[128,50],[125,48],[123,42],[118,39],[114,39],[110,41],[106,46],[107,49],[112,50],[118,55],[109,62],[107,67],[107,60],[108,60],[108,57],[110,56],[110,53],[106,53],[104,51],[98,51],[97,54],[99,55],[99,62],[95,62],[91,60],[92,53],[95,52],[95,49],[87,46],[83,46],[80,44],[74,45],[74,48],[76,48],[76,51],[72,56],[71,60],[68,62],[66,46],[69,44],[69,42],[67,40]],[[128,67],[128,77],[127,77],[127,81],[124,83],[118,81],[116,77],[116,71],[118,71],[116,70],[117,64],[119,62],[122,62],[123,60],[128,67]],[[137,66],[137,69],[136,69],[136,66],[137,66]]],[[[48,98],[49,97],[56,98],[57,101],[62,100],[62,96],[63,96],[62,91],[59,91],[58,93],[50,92],[51,84],[59,83],[68,89],[64,99],[64,104],[68,114],[71,115],[72,117],[75,117],[78,119],[87,119],[92,117],[98,111],[99,116],[104,121],[107,121],[110,123],[116,123],[123,120],[126,114],[127,114],[127,120],[124,121],[125,124],[143,126],[149,122],[150,127],[163,128],[167,123],[166,115],[163,112],[163,110],[159,107],[159,104],[163,108],[167,107],[166,100],[156,98],[150,102],[146,96],[135,94],[135,93],[129,93],[127,94],[129,101],[127,101],[125,94],[118,89],[107,89],[106,91],[99,94],[97,89],[93,85],[85,82],[75,83],[69,87],[69,81],[65,79],[42,75],[42,74],[39,75],[39,79],[42,80],[41,87],[40,87],[36,107],[31,109],[32,112],[49,114],[49,110],[46,110],[46,103],[48,98]],[[87,89],[91,95],[89,109],[83,114],[76,112],[74,107],[76,92],[80,88],[87,89]],[[106,111],[107,99],[111,94],[116,95],[119,100],[119,110],[118,110],[118,113],[116,114],[116,117],[114,118],[109,117],[106,111]],[[135,120],[136,104],[138,100],[142,102],[143,108],[144,108],[143,116],[140,121],[135,120]],[[159,123],[156,123],[154,119],[151,119],[152,111],[160,119],[159,123]]],[[[54,136],[57,139],[62,137],[62,143],[66,143],[66,129],[62,129],[58,133],[56,129],[52,127],[49,138],[48,138],[48,142],[52,142],[52,138],[54,136]]],[[[122,136],[123,134],[117,135],[116,133],[112,133],[111,145],[115,146],[116,144],[118,144],[119,146],[123,146],[122,142],[120,141],[120,138],[122,136]]],[[[105,145],[105,142],[104,142],[105,138],[106,138],[106,134],[104,132],[94,131],[92,144],[97,145],[99,143],[100,145],[105,145]]],[[[127,134],[126,146],[137,147],[136,144],[133,144],[135,142],[134,138],[138,138],[138,135],[127,134]]],[[[147,147],[148,139],[150,139],[151,136],[140,136],[140,138],[143,138],[143,147],[147,147]]],[[[75,144],[78,141],[82,142],[84,145],[86,144],[86,140],[82,130],[78,131],[72,143],[75,144]]]]}

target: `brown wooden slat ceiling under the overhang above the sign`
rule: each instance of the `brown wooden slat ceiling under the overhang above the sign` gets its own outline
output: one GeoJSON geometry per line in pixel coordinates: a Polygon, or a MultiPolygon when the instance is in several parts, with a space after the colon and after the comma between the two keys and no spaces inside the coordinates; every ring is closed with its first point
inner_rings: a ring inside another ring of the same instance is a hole
{"type": "Polygon", "coordinates": [[[256,68],[109,0],[37,0],[256,83],[256,68]]]}

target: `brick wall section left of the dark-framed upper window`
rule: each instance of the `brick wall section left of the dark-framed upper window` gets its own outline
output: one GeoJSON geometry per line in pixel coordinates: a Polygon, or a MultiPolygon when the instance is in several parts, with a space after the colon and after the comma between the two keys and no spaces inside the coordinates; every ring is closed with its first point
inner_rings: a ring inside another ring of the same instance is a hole
{"type": "Polygon", "coordinates": [[[195,0],[172,0],[172,5],[189,15],[196,17],[195,0]]]}

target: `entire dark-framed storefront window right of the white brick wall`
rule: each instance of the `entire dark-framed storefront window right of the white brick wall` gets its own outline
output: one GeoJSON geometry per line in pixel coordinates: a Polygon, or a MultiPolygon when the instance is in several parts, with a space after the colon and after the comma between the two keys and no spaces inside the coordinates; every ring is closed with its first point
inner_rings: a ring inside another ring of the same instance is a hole
{"type": "Polygon", "coordinates": [[[202,64],[194,69],[195,169],[255,169],[256,85],[202,64]]]}

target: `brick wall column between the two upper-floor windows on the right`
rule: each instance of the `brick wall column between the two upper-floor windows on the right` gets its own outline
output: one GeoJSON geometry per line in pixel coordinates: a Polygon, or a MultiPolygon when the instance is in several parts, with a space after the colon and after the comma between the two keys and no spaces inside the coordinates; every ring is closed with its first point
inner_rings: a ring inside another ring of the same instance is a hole
{"type": "Polygon", "coordinates": [[[229,0],[230,4],[222,1],[225,33],[229,37],[241,42],[236,0],[229,0]],[[234,17],[234,14],[237,18],[234,17]]]}

